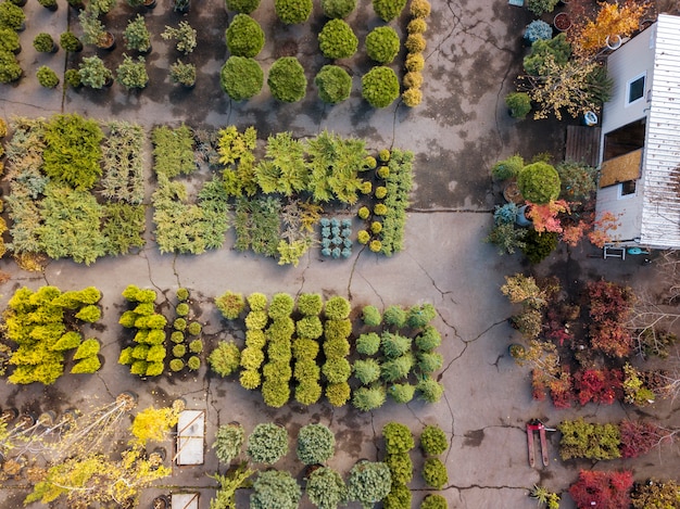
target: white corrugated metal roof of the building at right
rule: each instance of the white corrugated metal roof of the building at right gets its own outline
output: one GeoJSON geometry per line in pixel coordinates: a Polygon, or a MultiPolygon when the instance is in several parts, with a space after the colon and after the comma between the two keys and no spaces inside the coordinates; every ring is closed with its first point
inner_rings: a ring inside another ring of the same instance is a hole
{"type": "Polygon", "coordinates": [[[656,23],[640,243],[680,249],[680,17],[656,23]]]}

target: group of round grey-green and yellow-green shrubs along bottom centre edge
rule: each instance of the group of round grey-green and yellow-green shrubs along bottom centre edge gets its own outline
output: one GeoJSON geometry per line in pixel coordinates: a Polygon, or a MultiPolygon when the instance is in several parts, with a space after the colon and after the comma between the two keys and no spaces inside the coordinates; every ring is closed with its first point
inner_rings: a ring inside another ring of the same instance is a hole
{"type": "MultiPolygon", "coordinates": [[[[411,507],[411,491],[406,486],[413,478],[413,462],[408,455],[415,446],[411,430],[404,424],[390,422],[382,429],[386,444],[383,461],[360,460],[350,470],[345,484],[342,475],[328,467],[336,447],[333,433],[325,424],[306,424],[300,429],[295,453],[298,459],[307,466],[305,471],[305,492],[310,500],[319,507],[337,508],[348,501],[358,501],[363,507],[373,507],[382,500],[386,508],[411,507]]],[[[243,445],[245,454],[253,463],[265,466],[276,463],[288,453],[288,432],[275,423],[256,424],[245,438],[245,430],[238,422],[223,424],[215,435],[213,448],[217,459],[227,466],[239,458],[243,445]]],[[[427,456],[442,454],[448,448],[445,434],[436,425],[427,425],[420,437],[420,446],[427,456]]],[[[430,487],[439,489],[448,482],[446,468],[441,461],[437,465],[426,460],[423,478],[430,487]]],[[[216,476],[222,487],[217,499],[234,500],[235,492],[256,471],[241,463],[239,482],[235,479],[216,476]]],[[[286,471],[267,470],[259,472],[253,483],[251,507],[294,508],[302,497],[302,491],[295,480],[286,471]],[[272,478],[272,479],[269,479],[272,478]],[[275,485],[277,489],[272,491],[275,485]],[[265,486],[269,489],[266,489],[265,486]]],[[[420,507],[445,509],[444,497],[430,494],[420,507]]]]}

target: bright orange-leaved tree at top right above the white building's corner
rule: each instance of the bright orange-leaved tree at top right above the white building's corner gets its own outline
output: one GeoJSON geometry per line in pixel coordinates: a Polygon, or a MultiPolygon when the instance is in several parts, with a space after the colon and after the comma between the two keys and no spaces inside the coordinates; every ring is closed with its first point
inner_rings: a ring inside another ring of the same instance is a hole
{"type": "Polygon", "coordinates": [[[647,11],[645,3],[627,0],[622,4],[600,3],[595,20],[582,18],[569,31],[574,51],[590,56],[606,46],[607,37],[628,37],[640,28],[640,20],[647,11]]]}

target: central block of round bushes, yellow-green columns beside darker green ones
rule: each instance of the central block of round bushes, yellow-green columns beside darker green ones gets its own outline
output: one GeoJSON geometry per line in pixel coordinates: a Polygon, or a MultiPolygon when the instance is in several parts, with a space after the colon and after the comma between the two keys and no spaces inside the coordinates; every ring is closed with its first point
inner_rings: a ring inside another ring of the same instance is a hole
{"type": "Polygon", "coordinates": [[[352,405],[368,411],[382,406],[388,395],[403,404],[418,393],[435,403],[443,393],[433,379],[443,358],[435,352],[441,336],[429,325],[436,316],[430,304],[390,306],[385,315],[375,306],[364,307],[363,332],[353,348],[351,305],[343,297],[324,302],[318,294],[301,294],[295,303],[282,293],[269,301],[262,293],[245,300],[226,292],[215,300],[228,320],[242,317],[247,302],[244,348],[223,342],[209,362],[223,377],[241,368],[241,385],[254,390],[262,384],[269,406],[280,407],[291,394],[298,403],[311,405],[324,393],[333,406],[351,398],[352,405]],[[353,349],[362,357],[351,361],[353,349]],[[353,391],[352,374],[358,382],[353,391]]]}

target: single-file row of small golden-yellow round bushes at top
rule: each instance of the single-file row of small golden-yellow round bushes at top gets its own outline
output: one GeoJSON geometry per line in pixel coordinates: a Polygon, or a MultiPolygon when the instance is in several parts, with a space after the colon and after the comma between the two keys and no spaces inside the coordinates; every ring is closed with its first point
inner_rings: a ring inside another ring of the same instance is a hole
{"type": "Polygon", "coordinates": [[[427,0],[413,0],[411,2],[411,22],[406,27],[408,36],[406,37],[405,47],[406,54],[406,74],[404,75],[405,90],[402,93],[402,101],[406,106],[413,107],[420,104],[423,100],[423,75],[420,72],[425,66],[423,51],[426,48],[426,41],[423,34],[427,30],[426,17],[430,15],[430,3],[427,0]]]}

